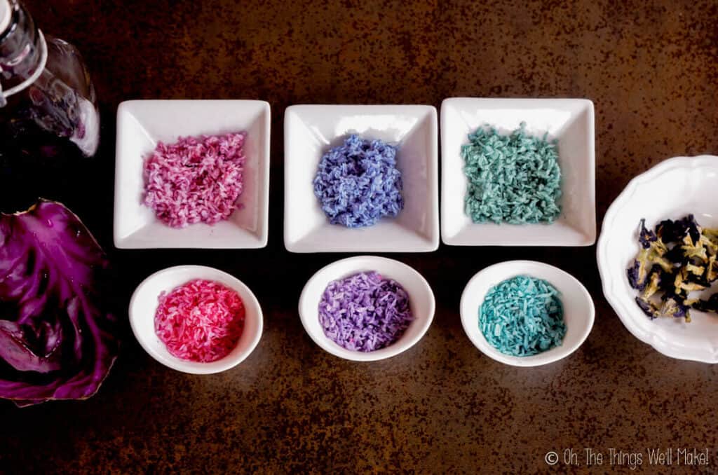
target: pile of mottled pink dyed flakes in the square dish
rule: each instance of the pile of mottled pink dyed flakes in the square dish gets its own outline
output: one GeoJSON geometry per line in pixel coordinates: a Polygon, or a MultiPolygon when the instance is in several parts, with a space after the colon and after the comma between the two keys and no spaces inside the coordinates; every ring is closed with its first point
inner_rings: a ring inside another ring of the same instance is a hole
{"type": "Polygon", "coordinates": [[[172,227],[226,220],[242,194],[246,133],[159,142],[144,162],[143,203],[172,227]]]}

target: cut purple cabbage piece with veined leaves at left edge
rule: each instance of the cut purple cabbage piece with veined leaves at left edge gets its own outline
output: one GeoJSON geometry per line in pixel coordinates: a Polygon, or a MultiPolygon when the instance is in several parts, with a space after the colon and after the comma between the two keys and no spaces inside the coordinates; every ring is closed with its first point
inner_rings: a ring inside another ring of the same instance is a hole
{"type": "Polygon", "coordinates": [[[97,392],[118,351],[107,269],[62,204],[0,215],[0,398],[22,406],[97,392]]]}

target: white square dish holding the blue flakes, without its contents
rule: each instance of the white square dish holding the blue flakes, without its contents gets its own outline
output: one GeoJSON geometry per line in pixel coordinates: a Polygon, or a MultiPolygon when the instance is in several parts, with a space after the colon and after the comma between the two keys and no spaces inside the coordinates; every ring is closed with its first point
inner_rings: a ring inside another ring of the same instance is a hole
{"type": "Polygon", "coordinates": [[[293,253],[439,247],[437,110],[431,105],[292,105],[284,114],[284,245],[293,253]],[[355,133],[398,146],[404,210],[376,225],[330,224],[314,196],[320,159],[355,133]]]}

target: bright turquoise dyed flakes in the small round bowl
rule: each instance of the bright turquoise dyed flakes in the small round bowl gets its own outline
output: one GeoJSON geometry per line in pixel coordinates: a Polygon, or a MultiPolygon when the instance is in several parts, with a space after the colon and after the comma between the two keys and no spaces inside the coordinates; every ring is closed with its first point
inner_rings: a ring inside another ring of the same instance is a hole
{"type": "Polygon", "coordinates": [[[503,281],[486,294],[479,309],[479,328],[495,349],[511,356],[557,347],[566,334],[559,291],[528,276],[503,281]]]}

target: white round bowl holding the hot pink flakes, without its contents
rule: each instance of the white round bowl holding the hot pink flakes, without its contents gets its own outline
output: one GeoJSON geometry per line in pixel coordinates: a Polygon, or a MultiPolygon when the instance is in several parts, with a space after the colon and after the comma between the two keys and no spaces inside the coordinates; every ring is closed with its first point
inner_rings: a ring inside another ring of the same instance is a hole
{"type": "Polygon", "coordinates": [[[129,316],[135,338],[151,357],[173,370],[194,375],[222,372],[241,363],[259,343],[263,326],[262,310],[252,291],[230,274],[203,265],[177,265],[146,278],[132,294],[129,316]],[[154,314],[159,305],[159,294],[172,291],[177,286],[198,278],[232,288],[242,298],[245,309],[244,329],[237,347],[222,359],[208,363],[174,357],[154,331],[154,314]]]}

